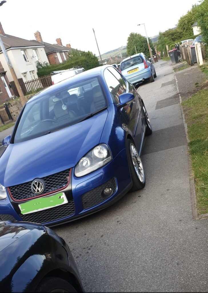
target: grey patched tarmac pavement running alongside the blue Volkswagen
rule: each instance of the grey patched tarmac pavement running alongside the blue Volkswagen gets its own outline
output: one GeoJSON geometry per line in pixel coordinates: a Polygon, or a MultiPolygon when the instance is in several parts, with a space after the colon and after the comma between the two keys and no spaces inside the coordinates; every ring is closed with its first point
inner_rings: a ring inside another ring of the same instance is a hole
{"type": "Polygon", "coordinates": [[[143,190],[54,228],[69,244],[86,291],[207,291],[207,219],[192,219],[187,141],[171,64],[140,86],[151,118],[143,190]]]}

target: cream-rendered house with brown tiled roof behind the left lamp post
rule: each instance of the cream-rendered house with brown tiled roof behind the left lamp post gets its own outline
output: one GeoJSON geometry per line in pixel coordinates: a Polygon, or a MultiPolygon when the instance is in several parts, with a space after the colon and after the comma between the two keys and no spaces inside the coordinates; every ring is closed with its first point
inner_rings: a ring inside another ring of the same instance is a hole
{"type": "MultiPolygon", "coordinates": [[[[44,44],[37,44],[29,40],[21,39],[4,33],[0,23],[0,34],[8,57],[14,68],[18,79],[28,81],[37,78],[37,61],[47,62],[47,56],[44,50],[44,44]]],[[[7,73],[9,81],[13,81],[8,64],[0,49],[0,62],[7,73]]]]}

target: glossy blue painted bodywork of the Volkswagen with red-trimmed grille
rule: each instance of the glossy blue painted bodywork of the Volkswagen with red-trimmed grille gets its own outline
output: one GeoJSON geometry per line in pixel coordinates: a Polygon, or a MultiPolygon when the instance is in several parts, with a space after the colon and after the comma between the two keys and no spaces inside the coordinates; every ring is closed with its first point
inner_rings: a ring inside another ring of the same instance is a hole
{"type": "MultiPolygon", "coordinates": [[[[0,183],[6,187],[72,168],[71,187],[75,213],[69,217],[44,224],[57,224],[60,221],[72,220],[87,212],[102,209],[106,203],[119,197],[123,190],[128,191],[131,187],[132,181],[126,156],[126,139],[129,137],[134,140],[140,154],[146,129],[141,98],[134,86],[124,78],[127,87],[126,92],[133,93],[135,100],[119,110],[114,104],[104,79],[103,72],[107,67],[103,66],[85,71],[78,76],[74,76],[43,91],[44,93],[54,92],[54,90],[66,86],[70,81],[76,82],[80,78],[84,80],[99,75],[108,101],[108,108],[106,110],[83,122],[48,135],[16,144],[10,143],[0,158],[0,183]],[[126,113],[127,109],[128,114],[126,113]],[[76,177],[74,174],[76,163],[99,143],[105,143],[109,146],[112,160],[90,174],[76,177]],[[97,205],[83,209],[82,195],[113,177],[116,179],[117,185],[114,194],[97,205]]],[[[37,94],[28,103],[36,98],[41,98],[41,94],[37,94]]],[[[0,201],[0,211],[1,214],[12,214],[17,220],[21,220],[11,204],[9,196],[5,200],[0,201]],[[1,205],[4,207],[7,205],[10,209],[9,212],[5,208],[2,210],[1,205]]]]}

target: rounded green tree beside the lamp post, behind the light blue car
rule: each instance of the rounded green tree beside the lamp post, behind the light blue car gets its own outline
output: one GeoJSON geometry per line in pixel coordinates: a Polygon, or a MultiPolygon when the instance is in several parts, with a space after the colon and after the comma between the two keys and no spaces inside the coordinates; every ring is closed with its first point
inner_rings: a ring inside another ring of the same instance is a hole
{"type": "MultiPolygon", "coordinates": [[[[153,49],[152,41],[150,39],[149,39],[149,45],[153,49]]],[[[128,55],[131,56],[136,54],[135,47],[136,47],[137,53],[143,52],[147,57],[150,57],[149,48],[147,44],[147,38],[137,33],[130,33],[127,39],[127,46],[126,46],[128,55]]]]}

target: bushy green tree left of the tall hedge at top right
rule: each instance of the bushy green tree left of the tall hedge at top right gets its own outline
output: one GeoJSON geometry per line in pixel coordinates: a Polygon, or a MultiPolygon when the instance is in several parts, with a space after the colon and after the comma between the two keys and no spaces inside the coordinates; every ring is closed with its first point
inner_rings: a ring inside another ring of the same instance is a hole
{"type": "Polygon", "coordinates": [[[188,10],[188,12],[178,20],[178,29],[183,32],[186,38],[190,38],[190,36],[193,35],[191,26],[197,21],[198,8],[199,5],[192,5],[191,10],[188,10]]]}

